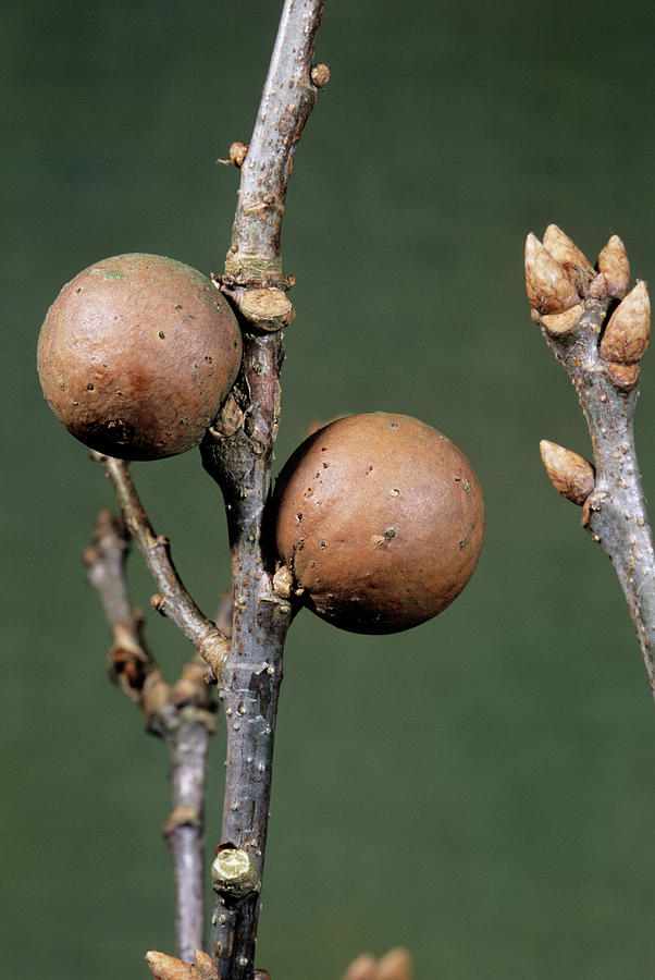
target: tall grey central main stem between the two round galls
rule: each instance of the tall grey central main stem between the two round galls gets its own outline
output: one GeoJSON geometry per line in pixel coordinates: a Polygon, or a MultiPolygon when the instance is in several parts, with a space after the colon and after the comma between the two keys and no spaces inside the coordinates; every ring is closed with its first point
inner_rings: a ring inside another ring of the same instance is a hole
{"type": "MultiPolygon", "coordinates": [[[[314,105],[312,54],[323,0],[286,0],[247,156],[223,277],[215,282],[244,330],[236,424],[218,426],[203,465],[225,499],[234,586],[232,646],[219,697],[227,724],[221,844],[212,866],[217,902],[210,951],[221,977],[251,980],[271,794],[282,650],[293,607],[275,592],[267,538],[273,445],[280,415],[280,328],[293,309],[280,256],[294,150],[314,105]],[[236,425],[236,430],[234,430],[236,425]],[[222,434],[223,433],[223,434],[222,434]]],[[[325,70],[326,71],[326,70],[325,70]]],[[[326,81],[323,73],[321,76],[326,81]]]]}

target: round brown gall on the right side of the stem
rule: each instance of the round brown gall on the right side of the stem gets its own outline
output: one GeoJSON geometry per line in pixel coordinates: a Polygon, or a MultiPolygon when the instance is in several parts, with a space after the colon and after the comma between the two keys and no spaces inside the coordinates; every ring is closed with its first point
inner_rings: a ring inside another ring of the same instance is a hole
{"type": "Polygon", "coordinates": [[[442,612],[484,535],[478,478],[445,436],[406,415],[339,418],[307,439],[274,494],[275,540],[307,605],[354,633],[442,612]]]}

